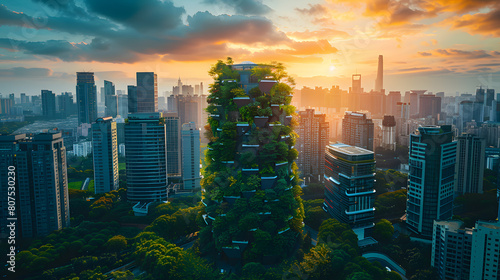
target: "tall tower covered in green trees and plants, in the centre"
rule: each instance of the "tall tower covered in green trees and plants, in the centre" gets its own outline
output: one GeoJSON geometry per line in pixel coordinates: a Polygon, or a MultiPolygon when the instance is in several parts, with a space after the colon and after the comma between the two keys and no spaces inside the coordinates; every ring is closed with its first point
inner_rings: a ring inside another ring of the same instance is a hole
{"type": "Polygon", "coordinates": [[[202,251],[274,262],[296,247],[304,208],[294,160],[294,82],[280,63],[219,60],[208,97],[202,251]]]}

